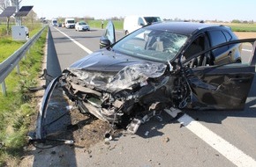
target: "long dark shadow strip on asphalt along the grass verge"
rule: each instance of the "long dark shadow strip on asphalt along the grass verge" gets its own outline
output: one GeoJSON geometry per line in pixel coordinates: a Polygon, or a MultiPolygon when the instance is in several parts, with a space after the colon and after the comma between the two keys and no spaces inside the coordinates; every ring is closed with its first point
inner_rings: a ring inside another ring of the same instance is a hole
{"type": "MultiPolygon", "coordinates": [[[[47,72],[53,77],[60,76],[62,73],[50,30],[47,49],[47,72]]],[[[46,81],[46,83],[49,83],[49,81],[46,81]]],[[[35,143],[36,149],[32,151],[34,167],[76,166],[73,148],[64,144],[73,140],[72,132],[67,130],[67,127],[72,124],[71,108],[72,106],[69,105],[68,100],[64,98],[63,91],[56,88],[49,99],[45,124],[42,125],[46,132],[46,140],[43,143],[35,143]]]]}

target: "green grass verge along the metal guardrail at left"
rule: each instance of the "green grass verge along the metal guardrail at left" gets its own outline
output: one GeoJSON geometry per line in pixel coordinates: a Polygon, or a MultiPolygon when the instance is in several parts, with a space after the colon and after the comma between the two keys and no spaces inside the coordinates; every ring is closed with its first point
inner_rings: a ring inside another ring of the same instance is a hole
{"type": "MultiPolygon", "coordinates": [[[[5,79],[7,97],[0,93],[0,166],[10,166],[7,164],[9,161],[18,163],[23,147],[26,145],[26,134],[32,115],[37,113],[37,103],[34,102],[33,94],[27,88],[37,85],[37,78],[41,73],[46,34],[47,28],[34,47],[30,49],[30,53],[26,54],[26,59],[19,62],[20,75],[14,69],[11,75],[5,79]]],[[[12,41],[8,38],[1,39],[1,61],[5,59],[4,57],[10,56],[22,44],[22,42],[12,41]]],[[[12,165],[16,166],[17,164],[12,165]]]]}

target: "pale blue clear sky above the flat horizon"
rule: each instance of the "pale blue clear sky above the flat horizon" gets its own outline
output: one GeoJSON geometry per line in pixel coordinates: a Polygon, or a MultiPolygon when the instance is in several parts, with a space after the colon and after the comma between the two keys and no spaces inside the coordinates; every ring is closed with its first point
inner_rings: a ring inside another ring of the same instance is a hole
{"type": "Polygon", "coordinates": [[[256,21],[255,0],[22,0],[38,17],[112,18],[150,15],[161,18],[256,21]]]}

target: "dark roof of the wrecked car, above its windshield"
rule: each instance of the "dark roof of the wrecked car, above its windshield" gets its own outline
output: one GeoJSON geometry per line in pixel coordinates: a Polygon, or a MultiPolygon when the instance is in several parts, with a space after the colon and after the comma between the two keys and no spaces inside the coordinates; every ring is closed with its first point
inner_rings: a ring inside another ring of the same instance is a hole
{"type": "Polygon", "coordinates": [[[222,28],[229,30],[227,26],[224,25],[210,25],[205,23],[196,23],[196,22],[158,22],[154,23],[152,25],[148,25],[150,29],[156,29],[156,30],[164,30],[169,31],[173,33],[179,33],[184,35],[190,35],[196,31],[200,31],[202,29],[206,28],[222,28]]]}

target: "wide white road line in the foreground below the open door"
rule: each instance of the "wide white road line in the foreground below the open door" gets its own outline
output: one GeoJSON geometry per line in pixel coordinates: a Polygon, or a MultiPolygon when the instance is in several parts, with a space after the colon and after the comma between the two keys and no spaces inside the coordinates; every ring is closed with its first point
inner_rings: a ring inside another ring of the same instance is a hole
{"type": "MultiPolygon", "coordinates": [[[[170,115],[177,115],[178,110],[168,110],[166,111],[170,115]]],[[[234,163],[237,166],[245,166],[245,167],[255,167],[256,161],[251,157],[246,155],[242,150],[237,149],[235,146],[230,144],[230,142],[222,139],[221,136],[215,134],[207,127],[204,127],[200,122],[193,120],[187,114],[184,114],[181,118],[178,119],[180,124],[187,127],[193,134],[196,134],[200,137],[204,142],[207,142],[212,148],[217,150],[222,156],[225,156],[230,160],[231,163],[234,163]]]]}

